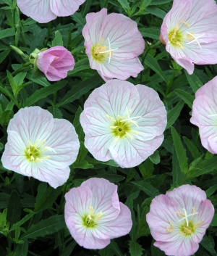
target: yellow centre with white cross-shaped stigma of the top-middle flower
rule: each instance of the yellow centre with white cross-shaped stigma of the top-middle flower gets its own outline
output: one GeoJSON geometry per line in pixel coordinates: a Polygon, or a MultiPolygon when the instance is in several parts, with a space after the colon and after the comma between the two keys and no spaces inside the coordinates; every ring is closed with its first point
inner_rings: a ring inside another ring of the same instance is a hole
{"type": "Polygon", "coordinates": [[[111,44],[109,39],[108,40],[108,46],[104,46],[104,40],[103,44],[95,44],[92,46],[91,49],[91,55],[93,57],[93,59],[95,59],[98,62],[103,62],[106,58],[108,58],[108,64],[110,63],[111,60],[111,55],[113,54],[113,51],[116,51],[118,48],[116,49],[111,49],[111,44]],[[108,47],[108,50],[107,50],[108,47]]]}

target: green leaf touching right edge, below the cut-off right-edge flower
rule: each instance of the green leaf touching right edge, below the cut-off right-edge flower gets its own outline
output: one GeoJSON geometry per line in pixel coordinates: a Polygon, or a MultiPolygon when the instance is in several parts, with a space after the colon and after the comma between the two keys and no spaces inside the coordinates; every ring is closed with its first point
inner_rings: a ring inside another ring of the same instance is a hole
{"type": "Polygon", "coordinates": [[[187,173],[187,178],[194,178],[205,173],[210,173],[214,169],[217,169],[216,166],[217,157],[210,158],[208,160],[203,160],[195,168],[192,167],[187,173]]]}

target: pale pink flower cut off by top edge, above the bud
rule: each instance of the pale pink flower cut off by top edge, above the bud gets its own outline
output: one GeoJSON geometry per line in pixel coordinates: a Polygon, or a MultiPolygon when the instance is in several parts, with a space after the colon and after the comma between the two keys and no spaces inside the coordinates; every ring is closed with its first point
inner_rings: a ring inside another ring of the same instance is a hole
{"type": "Polygon", "coordinates": [[[85,0],[17,0],[21,12],[40,23],[73,15],[85,0]]]}

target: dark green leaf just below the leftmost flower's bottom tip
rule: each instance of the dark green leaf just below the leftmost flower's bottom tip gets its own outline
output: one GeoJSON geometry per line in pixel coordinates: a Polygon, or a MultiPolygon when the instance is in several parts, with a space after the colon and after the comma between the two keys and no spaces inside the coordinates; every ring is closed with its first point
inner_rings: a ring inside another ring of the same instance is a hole
{"type": "Polygon", "coordinates": [[[61,189],[62,186],[58,186],[57,189],[53,189],[51,186],[49,186],[38,202],[35,203],[34,212],[39,212],[50,208],[61,193],[61,189]]]}

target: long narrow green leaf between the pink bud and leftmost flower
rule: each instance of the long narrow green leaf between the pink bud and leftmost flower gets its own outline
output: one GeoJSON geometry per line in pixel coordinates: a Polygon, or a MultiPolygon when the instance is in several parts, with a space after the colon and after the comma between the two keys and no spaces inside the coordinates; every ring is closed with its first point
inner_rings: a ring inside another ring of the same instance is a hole
{"type": "Polygon", "coordinates": [[[46,96],[50,94],[54,94],[55,91],[60,90],[67,84],[67,81],[62,81],[58,83],[54,83],[51,86],[41,88],[35,91],[29,98],[27,98],[23,104],[23,107],[29,107],[33,105],[35,102],[38,102],[40,99],[46,98],[46,96]]]}

